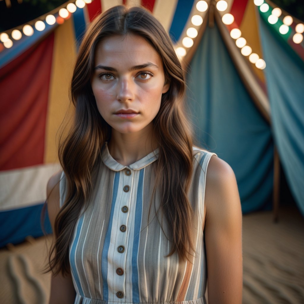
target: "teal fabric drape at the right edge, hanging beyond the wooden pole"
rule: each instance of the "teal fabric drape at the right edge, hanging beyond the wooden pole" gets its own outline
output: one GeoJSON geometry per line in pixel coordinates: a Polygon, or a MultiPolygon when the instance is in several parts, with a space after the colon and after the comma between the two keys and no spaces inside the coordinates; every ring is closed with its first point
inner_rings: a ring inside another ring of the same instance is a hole
{"type": "Polygon", "coordinates": [[[263,20],[260,35],[275,144],[304,215],[304,63],[263,20]]]}

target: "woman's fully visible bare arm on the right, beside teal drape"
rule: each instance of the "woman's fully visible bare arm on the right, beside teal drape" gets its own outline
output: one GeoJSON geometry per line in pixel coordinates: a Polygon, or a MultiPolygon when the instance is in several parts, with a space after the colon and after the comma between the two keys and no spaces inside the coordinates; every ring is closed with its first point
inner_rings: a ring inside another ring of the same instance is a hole
{"type": "Polygon", "coordinates": [[[242,212],[230,166],[211,157],[205,191],[205,242],[209,304],[242,302],[242,212]]]}

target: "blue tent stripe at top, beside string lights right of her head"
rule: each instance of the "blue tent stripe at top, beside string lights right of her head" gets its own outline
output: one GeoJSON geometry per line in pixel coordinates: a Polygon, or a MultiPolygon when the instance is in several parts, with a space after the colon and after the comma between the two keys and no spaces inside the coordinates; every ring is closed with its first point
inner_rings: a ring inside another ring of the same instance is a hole
{"type": "Polygon", "coordinates": [[[194,0],[178,1],[171,23],[170,35],[174,43],[178,41],[187,23],[194,0]]]}

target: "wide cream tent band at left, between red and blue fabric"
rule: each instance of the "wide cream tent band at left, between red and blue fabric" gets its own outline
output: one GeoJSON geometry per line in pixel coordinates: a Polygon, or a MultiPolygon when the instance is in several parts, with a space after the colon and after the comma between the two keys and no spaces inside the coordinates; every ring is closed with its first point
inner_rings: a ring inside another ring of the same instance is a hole
{"type": "Polygon", "coordinates": [[[59,164],[46,164],[0,172],[0,210],[44,202],[47,181],[60,169],[59,164]]]}

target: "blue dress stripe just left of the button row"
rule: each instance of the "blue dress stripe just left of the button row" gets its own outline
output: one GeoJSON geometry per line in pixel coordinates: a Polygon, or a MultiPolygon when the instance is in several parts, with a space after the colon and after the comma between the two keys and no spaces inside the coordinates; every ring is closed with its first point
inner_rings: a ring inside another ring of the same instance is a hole
{"type": "Polygon", "coordinates": [[[105,243],[103,245],[102,255],[101,255],[101,275],[102,275],[102,282],[103,282],[102,295],[103,295],[104,301],[108,301],[108,299],[109,299],[109,287],[108,287],[108,280],[107,280],[108,279],[108,252],[109,252],[109,247],[110,247],[113,213],[114,213],[114,208],[115,208],[115,203],[116,203],[118,184],[119,184],[119,171],[115,172],[114,185],[113,185],[113,198],[112,198],[109,225],[108,225],[107,233],[105,235],[105,243]]]}

